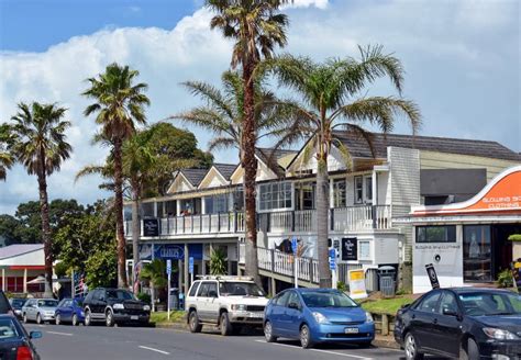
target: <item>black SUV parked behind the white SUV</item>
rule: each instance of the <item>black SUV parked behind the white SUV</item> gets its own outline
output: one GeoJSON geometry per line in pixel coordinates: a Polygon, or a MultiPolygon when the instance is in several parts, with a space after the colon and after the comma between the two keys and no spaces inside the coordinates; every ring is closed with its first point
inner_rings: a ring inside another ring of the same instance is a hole
{"type": "Polygon", "coordinates": [[[104,322],[109,327],[122,323],[147,325],[151,318],[151,306],[124,289],[95,289],[84,300],[84,312],[86,326],[93,322],[104,322]]]}

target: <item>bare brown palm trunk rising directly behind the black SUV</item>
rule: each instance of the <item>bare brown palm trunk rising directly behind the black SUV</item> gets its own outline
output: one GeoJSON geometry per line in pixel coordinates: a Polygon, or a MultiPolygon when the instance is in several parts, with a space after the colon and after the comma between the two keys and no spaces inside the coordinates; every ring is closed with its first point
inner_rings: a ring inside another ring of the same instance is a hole
{"type": "Polygon", "coordinates": [[[121,160],[122,139],[114,140],[114,207],[115,207],[115,238],[118,241],[118,288],[129,288],[126,281],[126,250],[123,230],[123,171],[121,160]]]}

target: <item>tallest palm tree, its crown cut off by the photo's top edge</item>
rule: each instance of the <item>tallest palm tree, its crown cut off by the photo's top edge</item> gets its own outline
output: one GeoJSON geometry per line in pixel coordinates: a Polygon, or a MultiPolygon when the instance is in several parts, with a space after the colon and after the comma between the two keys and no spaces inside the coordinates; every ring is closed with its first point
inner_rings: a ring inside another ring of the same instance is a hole
{"type": "Polygon", "coordinates": [[[207,0],[215,12],[211,29],[220,29],[224,37],[234,41],[232,68],[242,65],[244,88],[244,116],[242,122],[241,165],[244,169],[244,198],[246,217],[246,274],[258,281],[257,229],[255,212],[256,121],[255,85],[253,72],[263,57],[270,58],[275,47],[287,43],[288,19],[279,13],[287,0],[207,0]]]}

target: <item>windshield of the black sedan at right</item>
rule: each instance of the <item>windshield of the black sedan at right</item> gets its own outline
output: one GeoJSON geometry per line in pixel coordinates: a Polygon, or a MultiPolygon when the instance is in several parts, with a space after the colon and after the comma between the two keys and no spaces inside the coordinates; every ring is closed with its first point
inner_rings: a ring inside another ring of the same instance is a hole
{"type": "Polygon", "coordinates": [[[459,294],[465,314],[521,315],[520,295],[506,292],[473,292],[459,294]]]}

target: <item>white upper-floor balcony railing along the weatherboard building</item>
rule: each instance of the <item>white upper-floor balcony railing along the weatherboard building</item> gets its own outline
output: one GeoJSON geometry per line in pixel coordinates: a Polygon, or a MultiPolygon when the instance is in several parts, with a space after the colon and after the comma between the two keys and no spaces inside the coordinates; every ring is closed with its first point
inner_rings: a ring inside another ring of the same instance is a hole
{"type": "MultiPolygon", "coordinates": [[[[325,215],[332,232],[389,229],[390,205],[363,205],[330,209],[325,215]]],[[[315,210],[282,211],[257,214],[258,230],[273,234],[315,233],[315,210]]],[[[143,225],[143,224],[142,224],[143,225]]],[[[141,226],[141,236],[143,226],[141,226]]],[[[201,214],[158,220],[158,236],[197,234],[241,234],[245,229],[244,213],[201,214]]],[[[132,236],[132,222],[125,223],[125,235],[132,236]]],[[[148,235],[149,236],[149,235],[148,235]]]]}

